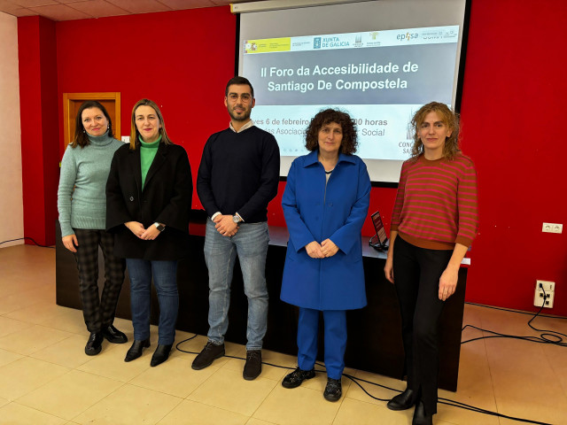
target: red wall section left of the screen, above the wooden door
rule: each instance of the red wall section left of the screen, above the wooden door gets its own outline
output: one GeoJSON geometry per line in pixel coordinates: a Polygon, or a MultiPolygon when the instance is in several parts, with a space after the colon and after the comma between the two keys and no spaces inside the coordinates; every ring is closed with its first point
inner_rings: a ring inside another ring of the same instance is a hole
{"type": "Polygon", "coordinates": [[[195,181],[207,137],[229,125],[223,99],[235,34],[229,7],[58,22],[58,110],[63,93],[120,91],[121,133],[129,135],[132,106],[153,100],[167,134],[188,151],[195,181]]]}

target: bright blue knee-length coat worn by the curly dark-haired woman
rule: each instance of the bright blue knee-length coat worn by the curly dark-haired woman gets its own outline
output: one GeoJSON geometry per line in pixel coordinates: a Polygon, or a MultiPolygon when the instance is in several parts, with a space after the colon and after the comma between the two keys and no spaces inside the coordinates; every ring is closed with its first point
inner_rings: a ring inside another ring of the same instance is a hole
{"type": "Polygon", "coordinates": [[[317,153],[293,161],[283,192],[290,240],[281,298],[315,310],[361,308],[366,305],[361,229],[369,210],[369,174],[361,158],[341,153],[325,187],[317,153]],[[338,246],[334,256],[307,255],[307,243],[327,238],[338,246]]]}

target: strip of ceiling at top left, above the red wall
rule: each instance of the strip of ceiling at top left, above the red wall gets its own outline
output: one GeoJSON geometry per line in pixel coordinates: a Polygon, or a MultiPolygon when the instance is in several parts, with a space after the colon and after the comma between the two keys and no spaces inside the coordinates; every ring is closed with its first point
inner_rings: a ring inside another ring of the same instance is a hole
{"type": "Polygon", "coordinates": [[[0,0],[0,12],[17,17],[40,15],[51,20],[72,20],[227,6],[250,1],[254,0],[0,0]]]}

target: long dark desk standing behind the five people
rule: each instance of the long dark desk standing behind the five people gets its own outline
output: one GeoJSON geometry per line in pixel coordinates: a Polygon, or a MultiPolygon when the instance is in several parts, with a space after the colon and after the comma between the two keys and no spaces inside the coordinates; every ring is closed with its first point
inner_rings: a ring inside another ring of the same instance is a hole
{"type": "MultiPolygon", "coordinates": [[[[208,275],[203,246],[205,225],[190,225],[190,256],[179,263],[177,284],[179,287],[179,317],[177,329],[206,335],[208,331],[208,275]]],[[[74,255],[61,243],[57,225],[57,304],[81,309],[78,274],[74,255]]],[[[280,300],[283,263],[288,239],[286,228],[269,229],[270,245],[266,262],[266,281],[269,293],[268,333],[264,348],[275,352],[297,355],[298,309],[280,300]]],[[[367,238],[363,238],[366,242],[367,238]]],[[[368,305],[361,310],[347,313],[348,344],[346,367],[374,372],[402,379],[404,356],[401,344],[400,307],[392,283],[384,277],[385,253],[374,251],[363,243],[364,272],[368,305]]],[[[104,284],[102,252],[99,251],[99,289],[104,284]]],[[[461,352],[462,313],[466,287],[467,268],[461,267],[459,282],[454,295],[448,299],[441,316],[439,333],[439,388],[456,391],[461,352]]],[[[131,319],[129,280],[122,286],[116,316],[131,319]]],[[[229,309],[229,331],[226,340],[246,344],[246,312],[242,273],[235,267],[229,309]]],[[[158,324],[159,306],[152,290],[151,323],[158,324]]],[[[319,353],[322,359],[322,329],[319,332],[319,353]]]]}

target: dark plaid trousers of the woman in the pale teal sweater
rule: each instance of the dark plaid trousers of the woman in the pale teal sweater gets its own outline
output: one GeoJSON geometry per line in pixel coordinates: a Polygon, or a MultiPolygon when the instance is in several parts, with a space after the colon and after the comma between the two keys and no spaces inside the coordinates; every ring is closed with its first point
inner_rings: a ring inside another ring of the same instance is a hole
{"type": "Polygon", "coordinates": [[[75,259],[79,269],[82,315],[89,332],[100,332],[113,324],[124,282],[126,262],[114,256],[114,236],[105,230],[74,228],[77,236],[75,259]],[[105,258],[105,287],[98,297],[98,245],[105,258]]]}

